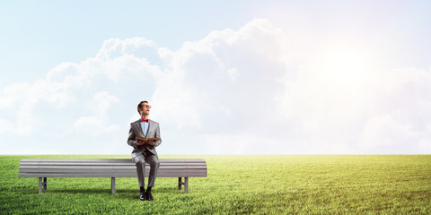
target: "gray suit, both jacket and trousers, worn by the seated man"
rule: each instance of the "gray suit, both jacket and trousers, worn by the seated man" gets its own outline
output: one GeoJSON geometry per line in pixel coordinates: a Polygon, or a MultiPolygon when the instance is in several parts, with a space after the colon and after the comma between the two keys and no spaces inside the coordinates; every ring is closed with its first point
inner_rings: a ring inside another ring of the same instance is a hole
{"type": "Polygon", "coordinates": [[[155,177],[159,169],[159,158],[155,147],[162,143],[162,140],[155,142],[154,146],[149,144],[137,145],[136,136],[145,138],[160,137],[160,127],[153,120],[148,121],[148,132],[144,135],[141,126],[141,119],[130,124],[128,131],[128,145],[133,147],[132,160],[136,164],[137,181],[139,186],[145,186],[145,162],[150,164],[150,174],[148,177],[148,186],[154,187],[155,177]]]}

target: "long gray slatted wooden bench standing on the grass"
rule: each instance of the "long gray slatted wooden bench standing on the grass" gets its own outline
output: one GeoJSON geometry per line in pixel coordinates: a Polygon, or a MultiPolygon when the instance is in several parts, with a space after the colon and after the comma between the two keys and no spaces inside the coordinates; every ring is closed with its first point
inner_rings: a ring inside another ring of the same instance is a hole
{"type": "MultiPolygon", "coordinates": [[[[189,193],[189,177],[206,177],[204,159],[160,159],[157,177],[178,177],[178,189],[184,185],[189,193]],[[184,182],[181,178],[184,177],[184,182]]],[[[145,165],[145,177],[150,172],[145,165]]],[[[131,159],[22,159],[20,177],[39,177],[39,193],[47,190],[48,177],[110,177],[112,193],[115,193],[116,177],[137,177],[136,166],[131,159]],[[43,178],[43,182],[42,182],[43,178]]],[[[136,182],[137,183],[137,182],[136,182]]]]}

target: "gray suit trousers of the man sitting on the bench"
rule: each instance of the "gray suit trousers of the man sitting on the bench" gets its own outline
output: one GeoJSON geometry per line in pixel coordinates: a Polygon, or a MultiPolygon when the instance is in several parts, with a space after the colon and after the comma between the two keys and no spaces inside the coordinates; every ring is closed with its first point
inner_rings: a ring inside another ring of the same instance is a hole
{"type": "Polygon", "coordinates": [[[159,158],[148,150],[133,158],[136,164],[137,181],[139,186],[145,186],[145,162],[150,164],[150,174],[148,176],[148,186],[154,187],[155,177],[159,170],[159,158]]]}

